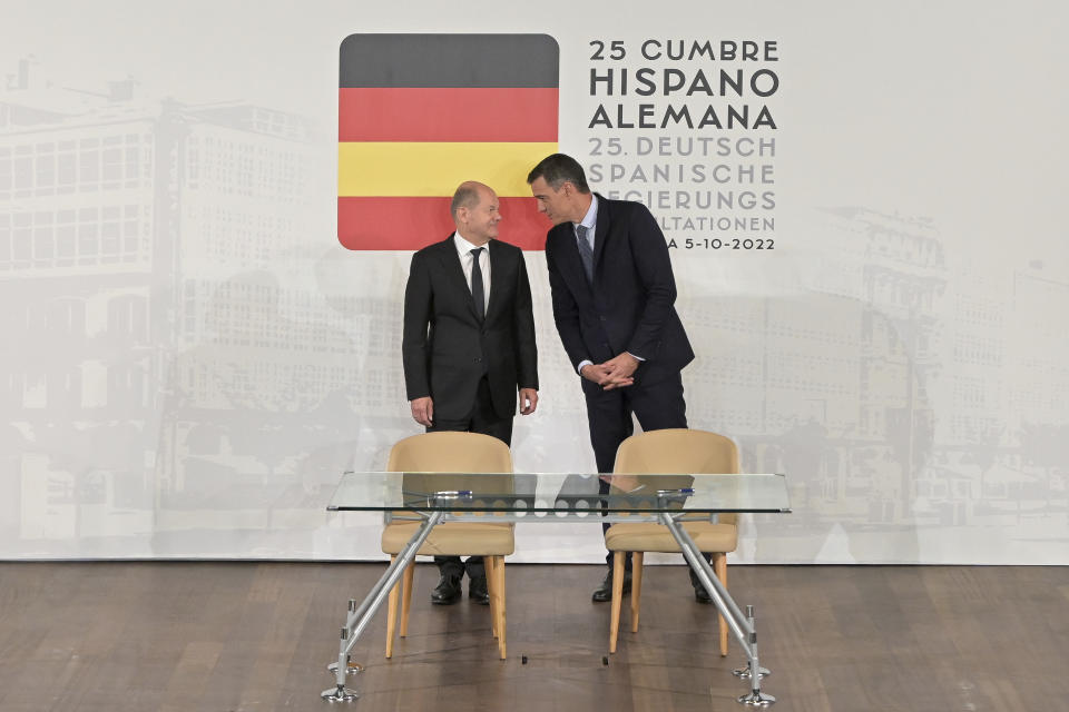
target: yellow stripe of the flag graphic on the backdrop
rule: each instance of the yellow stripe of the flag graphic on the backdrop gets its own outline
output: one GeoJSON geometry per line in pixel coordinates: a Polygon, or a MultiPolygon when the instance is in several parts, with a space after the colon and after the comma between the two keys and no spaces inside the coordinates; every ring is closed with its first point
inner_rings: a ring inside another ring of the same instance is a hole
{"type": "Polygon", "coordinates": [[[527,174],[557,144],[343,142],[337,195],[451,196],[461,182],[484,182],[502,198],[530,197],[527,174]]]}

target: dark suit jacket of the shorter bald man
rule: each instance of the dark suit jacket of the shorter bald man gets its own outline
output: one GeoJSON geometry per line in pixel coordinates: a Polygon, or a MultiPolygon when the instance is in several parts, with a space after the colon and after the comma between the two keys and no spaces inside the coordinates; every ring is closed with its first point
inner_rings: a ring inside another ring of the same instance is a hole
{"type": "Polygon", "coordinates": [[[490,240],[490,304],[480,323],[452,235],[412,256],[401,354],[409,399],[431,396],[434,415],[463,418],[487,374],[493,409],[516,414],[517,388],[538,388],[531,286],[518,247],[490,240]]]}

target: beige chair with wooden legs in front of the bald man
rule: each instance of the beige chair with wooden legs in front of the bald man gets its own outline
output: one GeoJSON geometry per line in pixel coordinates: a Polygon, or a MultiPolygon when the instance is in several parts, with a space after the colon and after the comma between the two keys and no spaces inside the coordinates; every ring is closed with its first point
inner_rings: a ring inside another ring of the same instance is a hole
{"type": "MultiPolygon", "coordinates": [[[[509,446],[496,437],[479,433],[425,433],[398,442],[390,451],[389,472],[404,473],[511,473],[509,446]]],[[[413,475],[414,476],[414,475],[413,475]]],[[[452,479],[450,481],[452,483],[452,479]]],[[[450,490],[459,488],[450,486],[450,490]]],[[[403,512],[395,515],[403,516],[403,512]]],[[[411,513],[409,513],[411,516],[411,513]]],[[[489,517],[488,517],[489,518],[489,517]]],[[[382,551],[393,562],[415,534],[419,522],[394,518],[382,533],[382,551]]],[[[514,548],[513,526],[507,523],[447,522],[439,524],[423,542],[423,556],[482,556],[490,593],[490,630],[498,639],[504,660],[504,557],[514,548]]],[[[401,582],[390,590],[386,604],[386,657],[393,655],[398,599],[401,587],[401,637],[409,633],[414,567],[410,564],[401,582]]]]}

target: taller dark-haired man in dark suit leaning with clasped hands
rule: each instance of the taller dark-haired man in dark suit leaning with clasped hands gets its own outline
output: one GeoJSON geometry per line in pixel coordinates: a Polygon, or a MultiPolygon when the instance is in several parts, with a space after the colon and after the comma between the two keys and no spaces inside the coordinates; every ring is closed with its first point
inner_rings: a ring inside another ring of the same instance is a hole
{"type": "MultiPolygon", "coordinates": [[[[553,224],[546,237],[553,319],[582,377],[598,472],[634,431],[687,427],[680,370],[694,350],[673,304],[676,283],[665,236],[640,202],[591,194],[582,167],[553,154],[527,177],[538,209],[553,224]]],[[[608,484],[601,482],[601,493],[608,484]]],[[[608,525],[604,525],[607,527],[608,525]]],[[[594,601],[612,597],[612,566],[594,601]]],[[[625,591],[630,591],[630,556],[625,591]]],[[[708,603],[692,575],[695,597],[708,603]]]]}

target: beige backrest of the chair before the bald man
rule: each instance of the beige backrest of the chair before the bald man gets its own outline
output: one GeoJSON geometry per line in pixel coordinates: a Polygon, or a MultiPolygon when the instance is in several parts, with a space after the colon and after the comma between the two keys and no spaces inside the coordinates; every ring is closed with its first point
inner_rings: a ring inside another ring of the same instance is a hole
{"type": "Polygon", "coordinates": [[[480,433],[423,433],[398,441],[388,472],[511,473],[509,446],[480,433]]]}

